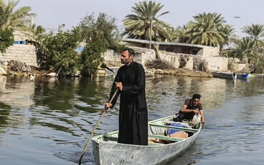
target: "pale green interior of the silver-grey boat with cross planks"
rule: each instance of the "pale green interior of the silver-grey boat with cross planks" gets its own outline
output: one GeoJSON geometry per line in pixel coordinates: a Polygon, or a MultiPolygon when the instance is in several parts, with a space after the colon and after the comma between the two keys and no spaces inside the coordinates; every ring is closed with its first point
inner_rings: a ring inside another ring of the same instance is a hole
{"type": "MultiPolygon", "coordinates": [[[[169,135],[166,135],[165,132],[168,131],[168,129],[171,130],[177,130],[177,131],[183,131],[188,134],[188,138],[197,133],[201,129],[201,123],[199,122],[196,125],[189,124],[190,128],[184,128],[184,127],[178,127],[178,126],[171,126],[171,123],[179,124],[180,122],[174,122],[172,118],[175,116],[169,116],[164,117],[156,120],[152,120],[148,122],[148,146],[160,146],[160,145],[166,145],[166,143],[158,143],[158,142],[152,142],[151,139],[161,139],[164,141],[169,141],[170,143],[178,142],[181,140],[185,140],[186,138],[180,138],[180,137],[171,137],[169,135]]],[[[189,121],[182,121],[182,123],[188,124],[189,121]]],[[[117,143],[118,140],[118,131],[109,132],[103,135],[99,135],[94,137],[93,139],[96,139],[98,141],[107,141],[110,143],[117,143]]]]}

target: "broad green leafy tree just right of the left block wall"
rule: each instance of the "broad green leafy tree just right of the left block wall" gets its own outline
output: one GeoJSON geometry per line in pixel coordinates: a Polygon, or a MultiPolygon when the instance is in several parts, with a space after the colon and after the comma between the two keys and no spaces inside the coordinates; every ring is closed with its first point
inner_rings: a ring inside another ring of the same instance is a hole
{"type": "Polygon", "coordinates": [[[41,27],[37,28],[38,41],[40,42],[45,60],[45,67],[52,71],[62,71],[63,74],[76,72],[80,56],[75,51],[81,40],[80,27],[63,31],[64,24],[58,27],[58,31],[45,34],[41,27]]]}

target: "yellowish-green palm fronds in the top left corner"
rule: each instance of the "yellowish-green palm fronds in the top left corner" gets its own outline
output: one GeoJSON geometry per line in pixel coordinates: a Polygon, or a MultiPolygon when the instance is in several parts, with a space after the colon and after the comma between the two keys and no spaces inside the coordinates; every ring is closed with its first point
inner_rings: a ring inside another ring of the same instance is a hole
{"type": "Polygon", "coordinates": [[[11,1],[5,3],[0,0],[0,28],[13,28],[14,30],[28,31],[31,18],[35,17],[35,13],[31,12],[30,6],[22,6],[14,10],[19,1],[11,1]]]}

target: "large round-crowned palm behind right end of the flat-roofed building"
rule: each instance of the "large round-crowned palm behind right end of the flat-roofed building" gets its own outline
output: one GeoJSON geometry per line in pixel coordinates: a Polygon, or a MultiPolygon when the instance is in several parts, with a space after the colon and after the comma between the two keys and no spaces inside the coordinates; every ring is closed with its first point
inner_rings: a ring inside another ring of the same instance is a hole
{"type": "Polygon", "coordinates": [[[199,13],[193,18],[195,22],[192,22],[186,31],[190,43],[216,47],[219,42],[224,42],[223,32],[217,30],[225,23],[221,14],[199,13]]]}

